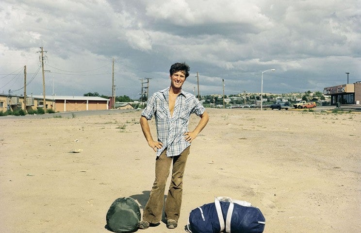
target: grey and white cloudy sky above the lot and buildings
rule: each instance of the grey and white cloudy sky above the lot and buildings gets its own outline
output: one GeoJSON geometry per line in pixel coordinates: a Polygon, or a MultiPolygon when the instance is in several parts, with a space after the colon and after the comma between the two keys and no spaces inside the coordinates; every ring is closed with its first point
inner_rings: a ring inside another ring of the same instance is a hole
{"type": "Polygon", "coordinates": [[[1,0],[0,93],[138,99],[191,67],[197,95],[323,91],[361,81],[360,0],[1,0]],[[145,80],[143,82],[146,82],[145,80]],[[145,84],[146,85],[146,84],[145,84]]]}

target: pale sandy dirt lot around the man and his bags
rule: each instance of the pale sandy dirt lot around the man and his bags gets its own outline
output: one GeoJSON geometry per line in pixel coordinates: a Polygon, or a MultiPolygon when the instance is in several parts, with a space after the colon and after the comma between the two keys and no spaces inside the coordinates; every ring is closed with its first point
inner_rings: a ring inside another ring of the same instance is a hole
{"type": "MultiPolygon", "coordinates": [[[[361,114],[207,111],[187,161],[178,228],[161,222],[138,232],[183,233],[189,212],[214,196],[259,207],[265,233],[361,232],[361,114]]],[[[139,117],[1,117],[0,232],[109,233],[116,198],[143,207],[155,153],[139,117]]],[[[150,127],[156,138],[154,120],[150,127]]]]}

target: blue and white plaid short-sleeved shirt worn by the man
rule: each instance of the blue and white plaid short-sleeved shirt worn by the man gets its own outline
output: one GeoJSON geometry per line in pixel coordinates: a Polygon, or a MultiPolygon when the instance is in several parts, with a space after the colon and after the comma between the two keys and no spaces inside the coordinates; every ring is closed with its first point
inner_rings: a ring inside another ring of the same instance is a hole
{"type": "Polygon", "coordinates": [[[191,113],[202,115],[206,110],[197,98],[185,91],[177,96],[173,116],[169,111],[169,88],[154,93],[148,100],[142,116],[148,120],[155,116],[158,141],[163,143],[162,149],[157,149],[160,156],[167,148],[167,157],[180,155],[191,144],[185,140],[183,133],[188,132],[188,122],[191,113]]]}

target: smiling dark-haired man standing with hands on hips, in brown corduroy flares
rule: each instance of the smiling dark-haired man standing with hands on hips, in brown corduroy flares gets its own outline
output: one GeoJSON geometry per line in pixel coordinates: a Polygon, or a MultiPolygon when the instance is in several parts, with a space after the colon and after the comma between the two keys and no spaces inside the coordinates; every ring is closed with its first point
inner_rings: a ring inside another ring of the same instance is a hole
{"type": "Polygon", "coordinates": [[[170,86],[154,93],[148,100],[147,107],[140,117],[142,131],[148,145],[157,152],[155,162],[155,181],[149,200],[143,211],[140,229],[147,229],[150,224],[159,225],[164,205],[164,190],[171,164],[172,180],[165,200],[167,228],[178,225],[181,212],[182,179],[185,163],[192,141],[206,126],[209,116],[197,98],[185,91],[182,85],[189,76],[189,67],[185,63],[176,63],[169,70],[170,86]],[[194,131],[188,131],[191,113],[200,116],[194,131]],[[148,120],[155,116],[158,140],[153,140],[148,120]]]}

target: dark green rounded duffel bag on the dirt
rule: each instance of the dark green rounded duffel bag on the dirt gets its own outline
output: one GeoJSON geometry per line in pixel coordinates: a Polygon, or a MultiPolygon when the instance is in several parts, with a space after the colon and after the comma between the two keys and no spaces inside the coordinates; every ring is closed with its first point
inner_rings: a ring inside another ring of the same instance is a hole
{"type": "Polygon", "coordinates": [[[132,198],[118,198],[109,207],[107,213],[108,230],[118,233],[130,233],[138,230],[140,208],[132,198]]]}

